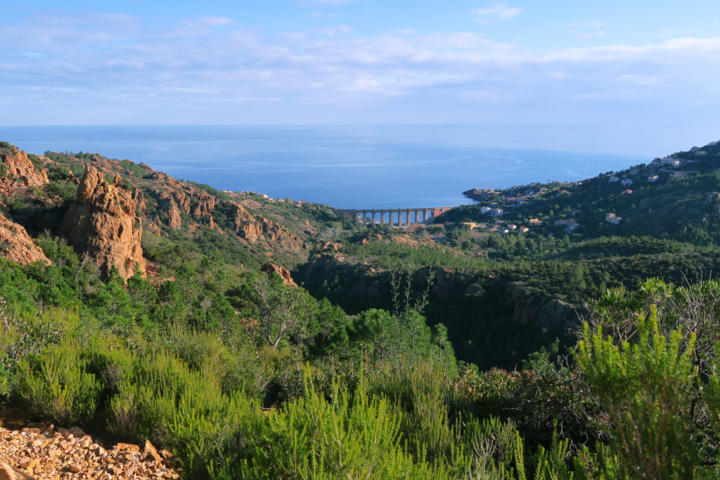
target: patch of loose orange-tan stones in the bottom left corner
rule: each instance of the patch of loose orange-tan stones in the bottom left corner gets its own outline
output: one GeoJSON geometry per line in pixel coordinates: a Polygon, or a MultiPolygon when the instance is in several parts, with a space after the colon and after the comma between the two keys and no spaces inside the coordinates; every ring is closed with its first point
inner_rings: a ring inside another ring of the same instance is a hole
{"type": "Polygon", "coordinates": [[[0,427],[0,480],[179,479],[172,459],[150,442],[104,448],[77,427],[0,427]]]}

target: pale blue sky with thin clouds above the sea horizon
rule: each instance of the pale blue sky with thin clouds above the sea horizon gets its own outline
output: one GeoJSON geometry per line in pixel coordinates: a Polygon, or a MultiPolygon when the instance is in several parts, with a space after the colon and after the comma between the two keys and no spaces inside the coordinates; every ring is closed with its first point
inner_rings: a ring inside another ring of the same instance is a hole
{"type": "Polygon", "coordinates": [[[469,125],[608,153],[720,137],[717,0],[3,0],[0,38],[5,126],[469,125]]]}

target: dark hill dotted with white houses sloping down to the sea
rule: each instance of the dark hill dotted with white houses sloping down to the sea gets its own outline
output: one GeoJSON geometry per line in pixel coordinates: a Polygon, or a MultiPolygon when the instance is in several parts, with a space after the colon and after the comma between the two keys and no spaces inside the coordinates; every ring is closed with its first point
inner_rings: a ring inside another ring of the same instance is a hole
{"type": "Polygon", "coordinates": [[[480,204],[455,209],[446,221],[488,221],[491,212],[482,207],[495,207],[504,211],[499,218],[544,233],[652,235],[710,245],[720,241],[720,144],[579,182],[465,194],[480,204]],[[539,219],[543,227],[530,219],[539,219]]]}

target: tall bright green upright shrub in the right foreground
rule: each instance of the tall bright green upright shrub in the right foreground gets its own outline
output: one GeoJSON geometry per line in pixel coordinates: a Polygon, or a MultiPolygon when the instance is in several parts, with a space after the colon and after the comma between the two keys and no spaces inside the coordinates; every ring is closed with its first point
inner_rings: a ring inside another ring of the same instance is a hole
{"type": "Polygon", "coordinates": [[[622,473],[641,478],[691,478],[697,451],[688,421],[693,404],[695,335],[683,349],[680,330],[660,334],[653,307],[641,318],[638,342],[613,345],[602,327],[577,345],[575,358],[616,428],[613,450],[623,458],[622,473]]]}

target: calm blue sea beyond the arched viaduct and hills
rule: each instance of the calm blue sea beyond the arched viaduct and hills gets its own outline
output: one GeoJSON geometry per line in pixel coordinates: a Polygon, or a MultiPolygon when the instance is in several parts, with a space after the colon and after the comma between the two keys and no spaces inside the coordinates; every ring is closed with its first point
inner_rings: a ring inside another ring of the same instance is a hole
{"type": "Polygon", "coordinates": [[[0,127],[28,153],[100,153],[220,190],[338,208],[452,207],[462,192],[575,181],[649,161],[527,148],[485,148],[472,127],[0,127]]]}

